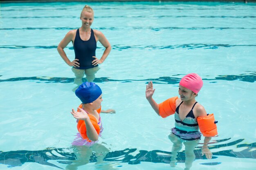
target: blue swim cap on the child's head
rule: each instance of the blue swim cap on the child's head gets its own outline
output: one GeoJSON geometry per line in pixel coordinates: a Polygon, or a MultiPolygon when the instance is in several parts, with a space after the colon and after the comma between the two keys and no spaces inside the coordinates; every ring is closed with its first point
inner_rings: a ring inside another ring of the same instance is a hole
{"type": "Polygon", "coordinates": [[[75,91],[83,104],[92,103],[102,94],[101,88],[93,82],[82,83],[75,91]]]}

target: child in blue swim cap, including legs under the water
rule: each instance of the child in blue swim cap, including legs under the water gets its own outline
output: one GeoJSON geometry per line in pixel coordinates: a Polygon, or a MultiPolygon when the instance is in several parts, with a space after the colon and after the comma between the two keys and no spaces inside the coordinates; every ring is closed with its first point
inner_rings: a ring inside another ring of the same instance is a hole
{"type": "MultiPolygon", "coordinates": [[[[103,131],[100,113],[115,113],[115,110],[101,110],[102,91],[93,82],[82,83],[75,91],[76,96],[81,100],[77,111],[72,109],[71,114],[77,119],[76,139],[72,142],[72,148],[76,154],[76,160],[66,166],[66,170],[76,170],[78,167],[90,163],[92,154],[97,157],[97,163],[105,163],[104,157],[109,149],[97,143],[103,131]]],[[[111,165],[104,166],[112,169],[111,165]]]]}

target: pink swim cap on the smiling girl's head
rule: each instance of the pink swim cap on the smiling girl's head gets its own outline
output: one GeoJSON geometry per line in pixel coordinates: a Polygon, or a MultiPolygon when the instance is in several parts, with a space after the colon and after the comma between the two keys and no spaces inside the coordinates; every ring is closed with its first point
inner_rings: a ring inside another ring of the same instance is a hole
{"type": "Polygon", "coordinates": [[[194,93],[198,93],[203,86],[202,78],[196,73],[190,73],[185,75],[180,80],[180,85],[188,88],[194,93]]]}

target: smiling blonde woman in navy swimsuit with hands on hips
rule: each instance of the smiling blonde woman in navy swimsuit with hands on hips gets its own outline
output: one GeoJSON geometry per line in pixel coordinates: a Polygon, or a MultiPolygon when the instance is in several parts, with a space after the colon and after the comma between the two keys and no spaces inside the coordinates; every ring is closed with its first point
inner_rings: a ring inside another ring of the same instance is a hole
{"type": "Polygon", "coordinates": [[[111,51],[111,45],[103,33],[92,30],[90,27],[94,20],[94,13],[91,7],[85,5],[81,12],[80,20],[82,21],[82,26],[79,29],[69,31],[57,48],[62,59],[69,66],[72,66],[72,71],[76,77],[74,83],[78,86],[82,84],[84,74],[88,82],[92,82],[95,79],[95,73],[99,70],[99,64],[106,60],[111,51]],[[70,41],[72,41],[75,51],[75,60],[72,62],[64,51],[64,48],[70,41]],[[98,41],[106,48],[100,59],[95,55],[98,41]]]}

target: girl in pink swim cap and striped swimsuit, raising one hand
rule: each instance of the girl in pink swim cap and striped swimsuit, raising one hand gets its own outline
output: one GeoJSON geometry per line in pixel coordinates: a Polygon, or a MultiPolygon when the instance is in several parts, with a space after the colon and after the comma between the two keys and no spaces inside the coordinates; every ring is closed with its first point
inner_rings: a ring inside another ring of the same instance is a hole
{"type": "MultiPolygon", "coordinates": [[[[191,73],[185,75],[179,84],[180,97],[170,98],[161,104],[157,104],[152,98],[155,92],[153,83],[149,82],[146,86],[146,99],[157,115],[167,117],[175,114],[175,128],[171,129],[171,134],[168,136],[173,142],[170,163],[173,167],[176,166],[176,155],[177,152],[181,150],[182,143],[185,146],[185,170],[191,168],[193,160],[195,159],[194,149],[195,146],[198,145],[201,137],[201,133],[198,131],[199,126],[197,118],[207,117],[204,107],[195,101],[195,97],[198,95],[202,86],[202,78],[198,74],[191,73]]],[[[210,140],[211,137],[205,137],[202,146],[202,156],[205,155],[207,159],[212,158],[212,153],[208,148],[210,140]]]]}

